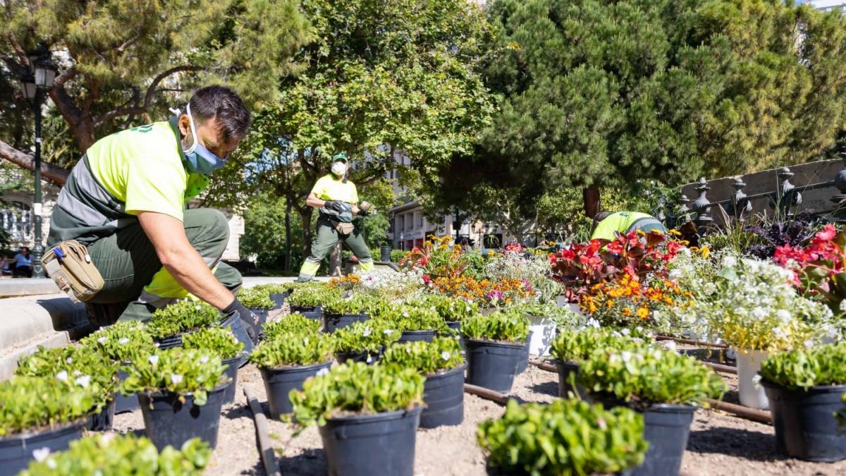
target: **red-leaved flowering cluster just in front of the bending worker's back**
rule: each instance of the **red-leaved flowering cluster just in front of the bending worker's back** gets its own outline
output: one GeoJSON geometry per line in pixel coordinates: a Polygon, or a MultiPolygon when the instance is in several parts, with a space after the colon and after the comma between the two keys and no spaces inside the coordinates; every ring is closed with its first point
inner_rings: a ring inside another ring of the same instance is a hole
{"type": "Polygon", "coordinates": [[[613,241],[576,243],[551,254],[549,261],[552,277],[564,285],[569,302],[579,302],[593,285],[618,274],[643,277],[655,273],[681,248],[681,242],[668,240],[660,233],[644,235],[633,231],[613,241]]]}

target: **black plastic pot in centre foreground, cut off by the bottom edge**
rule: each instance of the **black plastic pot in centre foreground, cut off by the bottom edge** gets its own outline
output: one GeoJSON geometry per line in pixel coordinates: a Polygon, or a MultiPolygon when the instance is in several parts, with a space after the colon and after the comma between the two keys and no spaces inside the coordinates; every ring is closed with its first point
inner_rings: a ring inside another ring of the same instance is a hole
{"type": "Polygon", "coordinates": [[[412,476],[423,407],[330,418],[320,427],[330,476],[412,476]]]}

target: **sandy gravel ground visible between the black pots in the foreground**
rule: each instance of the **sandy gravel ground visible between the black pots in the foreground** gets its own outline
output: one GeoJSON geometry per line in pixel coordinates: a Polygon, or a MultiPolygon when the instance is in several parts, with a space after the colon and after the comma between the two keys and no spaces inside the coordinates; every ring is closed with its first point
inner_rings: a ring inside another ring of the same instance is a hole
{"type": "MultiPolygon", "coordinates": [[[[727,380],[736,390],[736,381],[727,380]]],[[[241,368],[236,401],[223,408],[217,450],[206,474],[264,474],[256,450],[252,413],[244,398],[244,384],[253,386],[259,401],[266,401],[261,374],[255,366],[241,368]]],[[[558,395],[558,375],[530,366],[515,380],[512,394],[520,401],[552,401],[558,395]]],[[[730,393],[726,400],[736,401],[736,393],[730,393]]],[[[485,475],[485,455],[475,443],[475,427],[485,418],[497,418],[502,414],[503,407],[496,403],[464,394],[463,424],[418,431],[415,474],[485,475]]],[[[326,474],[326,461],[316,427],[298,435],[294,435],[294,426],[287,423],[271,420],[270,427],[283,474],[326,474]]],[[[140,411],[117,415],[115,429],[143,434],[140,411]]],[[[835,475],[846,474],[846,461],[812,463],[782,457],[775,451],[772,426],[702,409],[695,413],[682,473],[702,476],[835,475]]]]}

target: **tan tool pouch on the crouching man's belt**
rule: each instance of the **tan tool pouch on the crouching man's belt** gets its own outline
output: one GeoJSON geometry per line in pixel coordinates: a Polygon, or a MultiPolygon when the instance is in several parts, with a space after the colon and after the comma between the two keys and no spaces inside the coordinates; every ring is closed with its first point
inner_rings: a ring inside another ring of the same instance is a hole
{"type": "Polygon", "coordinates": [[[79,241],[62,241],[41,257],[41,266],[71,301],[88,301],[103,288],[103,277],[79,241]]]}

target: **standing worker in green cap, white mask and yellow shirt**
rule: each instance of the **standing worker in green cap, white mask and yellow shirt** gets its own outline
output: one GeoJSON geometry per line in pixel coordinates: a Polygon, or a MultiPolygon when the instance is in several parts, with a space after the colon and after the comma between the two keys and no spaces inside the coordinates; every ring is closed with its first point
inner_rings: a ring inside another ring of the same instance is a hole
{"type": "Polygon", "coordinates": [[[314,241],[311,241],[311,254],[305,258],[302,268],[299,268],[299,282],[314,279],[323,257],[338,241],[346,243],[355,257],[359,258],[362,272],[373,269],[370,248],[367,247],[364,235],[353,224],[356,216],[366,216],[371,208],[365,202],[361,203],[361,207],[358,206],[359,192],[355,190],[355,184],[347,179],[348,171],[347,154],[335,154],[332,157],[332,172],[317,180],[305,199],[306,205],[320,209],[320,216],[317,218],[314,241]]]}

